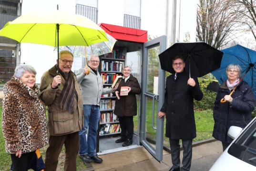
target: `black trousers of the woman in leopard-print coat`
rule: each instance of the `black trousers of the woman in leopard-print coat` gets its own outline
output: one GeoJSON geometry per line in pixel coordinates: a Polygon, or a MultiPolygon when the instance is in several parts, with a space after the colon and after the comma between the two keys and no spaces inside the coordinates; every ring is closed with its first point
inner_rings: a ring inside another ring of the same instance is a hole
{"type": "Polygon", "coordinates": [[[16,154],[10,154],[13,170],[12,171],[27,171],[36,151],[23,153],[20,158],[16,154]]]}

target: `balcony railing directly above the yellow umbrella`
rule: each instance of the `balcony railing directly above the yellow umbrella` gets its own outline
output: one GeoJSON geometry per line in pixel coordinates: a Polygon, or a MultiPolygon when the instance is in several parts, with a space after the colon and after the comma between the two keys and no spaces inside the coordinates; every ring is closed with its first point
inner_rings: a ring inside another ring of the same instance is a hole
{"type": "Polygon", "coordinates": [[[85,16],[96,24],[98,22],[97,8],[76,4],[76,14],[85,16]]]}

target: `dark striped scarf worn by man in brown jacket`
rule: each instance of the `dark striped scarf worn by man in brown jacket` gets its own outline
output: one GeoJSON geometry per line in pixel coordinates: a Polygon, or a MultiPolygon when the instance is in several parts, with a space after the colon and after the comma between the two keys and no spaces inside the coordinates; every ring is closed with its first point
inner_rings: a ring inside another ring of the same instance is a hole
{"type": "Polygon", "coordinates": [[[59,70],[61,76],[65,79],[65,85],[61,91],[59,98],[59,107],[63,110],[69,110],[71,114],[74,113],[74,97],[76,94],[75,87],[73,84],[72,72],[63,73],[59,70]]]}

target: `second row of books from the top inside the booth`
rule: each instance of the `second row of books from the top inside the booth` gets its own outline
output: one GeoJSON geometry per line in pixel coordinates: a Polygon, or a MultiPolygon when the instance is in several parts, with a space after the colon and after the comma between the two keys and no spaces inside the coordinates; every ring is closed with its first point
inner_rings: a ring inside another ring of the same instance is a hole
{"type": "Polygon", "coordinates": [[[102,60],[102,71],[114,71],[114,72],[122,72],[122,68],[124,66],[124,62],[122,61],[107,61],[102,60]]]}

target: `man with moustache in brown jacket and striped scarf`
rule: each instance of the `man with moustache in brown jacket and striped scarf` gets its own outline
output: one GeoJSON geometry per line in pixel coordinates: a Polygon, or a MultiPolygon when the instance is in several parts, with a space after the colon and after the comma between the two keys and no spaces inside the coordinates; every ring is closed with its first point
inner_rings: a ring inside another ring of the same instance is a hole
{"type": "Polygon", "coordinates": [[[82,93],[76,76],[71,71],[73,55],[64,50],[57,65],[41,78],[41,99],[48,106],[49,147],[46,151],[46,171],[56,171],[58,157],[65,145],[64,171],[76,171],[79,151],[79,131],[83,126],[82,93]]]}

